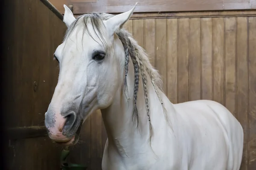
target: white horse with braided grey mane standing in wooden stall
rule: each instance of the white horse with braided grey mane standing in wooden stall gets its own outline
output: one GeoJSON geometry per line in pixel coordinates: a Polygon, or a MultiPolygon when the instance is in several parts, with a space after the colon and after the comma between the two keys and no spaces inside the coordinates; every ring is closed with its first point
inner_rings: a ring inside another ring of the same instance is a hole
{"type": "Polygon", "coordinates": [[[239,170],[240,123],[217,102],[169,101],[145,51],[122,28],[134,8],[77,19],[64,8],[68,30],[55,51],[60,73],[45,114],[53,141],[76,144],[84,120],[101,109],[103,170],[239,170]]]}

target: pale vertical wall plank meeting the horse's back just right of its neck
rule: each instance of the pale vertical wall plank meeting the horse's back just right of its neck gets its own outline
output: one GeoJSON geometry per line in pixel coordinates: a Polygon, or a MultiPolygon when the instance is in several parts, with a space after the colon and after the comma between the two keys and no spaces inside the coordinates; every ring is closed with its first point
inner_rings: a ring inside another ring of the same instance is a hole
{"type": "Polygon", "coordinates": [[[189,101],[189,19],[178,19],[178,97],[177,102],[189,101]]]}

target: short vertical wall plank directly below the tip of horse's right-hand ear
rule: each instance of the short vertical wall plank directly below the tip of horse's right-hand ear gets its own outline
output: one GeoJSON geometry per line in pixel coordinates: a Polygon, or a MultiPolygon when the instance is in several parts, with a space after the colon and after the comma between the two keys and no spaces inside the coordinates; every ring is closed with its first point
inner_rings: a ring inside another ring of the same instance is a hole
{"type": "Polygon", "coordinates": [[[144,48],[144,19],[133,21],[133,37],[144,48]]]}

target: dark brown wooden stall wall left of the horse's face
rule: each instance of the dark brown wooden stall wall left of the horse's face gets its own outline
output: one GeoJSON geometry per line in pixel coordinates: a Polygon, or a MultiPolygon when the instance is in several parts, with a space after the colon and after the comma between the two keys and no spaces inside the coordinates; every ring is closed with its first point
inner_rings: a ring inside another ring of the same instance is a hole
{"type": "Polygon", "coordinates": [[[49,140],[44,113],[58,81],[53,52],[66,26],[39,0],[3,3],[1,115],[9,132],[6,170],[57,170],[62,147],[49,140]]]}

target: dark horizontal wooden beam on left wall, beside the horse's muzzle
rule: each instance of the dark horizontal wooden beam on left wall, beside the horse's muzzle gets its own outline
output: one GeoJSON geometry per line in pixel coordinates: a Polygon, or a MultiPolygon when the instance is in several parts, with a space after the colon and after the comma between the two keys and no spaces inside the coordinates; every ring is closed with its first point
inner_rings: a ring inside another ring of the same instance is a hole
{"type": "Polygon", "coordinates": [[[47,129],[45,126],[15,127],[7,129],[7,137],[9,139],[27,139],[41,136],[47,136],[47,129]]]}

